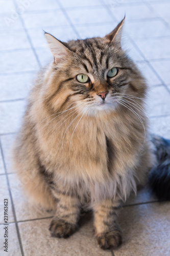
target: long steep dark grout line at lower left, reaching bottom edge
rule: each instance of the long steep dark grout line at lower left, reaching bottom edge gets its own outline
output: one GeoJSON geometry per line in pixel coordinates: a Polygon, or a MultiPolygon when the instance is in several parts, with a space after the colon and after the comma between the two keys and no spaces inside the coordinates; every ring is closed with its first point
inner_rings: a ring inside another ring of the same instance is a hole
{"type": "Polygon", "coordinates": [[[5,160],[4,160],[4,153],[3,153],[3,148],[2,148],[2,144],[1,144],[1,139],[0,139],[0,151],[1,151],[1,154],[2,154],[2,158],[3,158],[3,164],[4,164],[6,179],[7,179],[7,186],[8,186],[9,196],[10,196],[10,199],[11,199],[12,212],[13,212],[13,216],[14,216],[15,227],[16,227],[18,241],[19,241],[19,247],[20,247],[21,255],[24,256],[23,248],[22,248],[22,242],[21,242],[20,233],[19,233],[19,227],[18,227],[18,223],[17,223],[17,219],[16,219],[14,202],[13,202],[12,193],[11,193],[10,184],[9,184],[9,179],[8,179],[8,174],[7,174],[7,168],[6,168],[6,164],[5,164],[5,160]]]}

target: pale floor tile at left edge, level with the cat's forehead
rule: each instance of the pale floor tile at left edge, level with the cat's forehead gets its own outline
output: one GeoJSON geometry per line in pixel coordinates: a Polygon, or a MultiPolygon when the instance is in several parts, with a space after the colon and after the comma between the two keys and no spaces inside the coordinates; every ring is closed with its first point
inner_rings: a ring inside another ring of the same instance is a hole
{"type": "Polygon", "coordinates": [[[0,74],[35,71],[39,68],[35,55],[31,49],[1,53],[0,74]]]}

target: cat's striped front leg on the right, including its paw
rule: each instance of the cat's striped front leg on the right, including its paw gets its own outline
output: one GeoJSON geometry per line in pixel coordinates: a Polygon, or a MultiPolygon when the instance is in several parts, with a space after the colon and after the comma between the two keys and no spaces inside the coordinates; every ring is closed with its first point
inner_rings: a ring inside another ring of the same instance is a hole
{"type": "Polygon", "coordinates": [[[122,232],[117,223],[120,200],[104,200],[93,206],[95,237],[102,249],[117,248],[122,244],[122,232]]]}

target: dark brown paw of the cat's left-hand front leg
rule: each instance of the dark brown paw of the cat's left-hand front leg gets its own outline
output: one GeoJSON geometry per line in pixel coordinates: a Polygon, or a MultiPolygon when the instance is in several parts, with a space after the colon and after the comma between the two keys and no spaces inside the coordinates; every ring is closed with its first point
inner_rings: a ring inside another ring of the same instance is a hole
{"type": "Polygon", "coordinates": [[[52,237],[68,238],[77,229],[76,224],[71,224],[54,217],[51,221],[49,230],[52,237]]]}

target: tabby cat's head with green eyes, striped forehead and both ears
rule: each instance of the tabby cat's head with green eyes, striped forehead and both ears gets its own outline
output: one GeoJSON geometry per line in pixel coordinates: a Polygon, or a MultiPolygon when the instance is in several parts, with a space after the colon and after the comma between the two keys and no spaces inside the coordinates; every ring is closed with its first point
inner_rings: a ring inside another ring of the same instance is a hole
{"type": "Polygon", "coordinates": [[[54,56],[56,92],[51,99],[58,108],[68,109],[75,102],[80,110],[95,114],[121,108],[125,97],[144,97],[144,79],[120,44],[124,20],[105,37],[67,43],[45,32],[54,56]]]}

